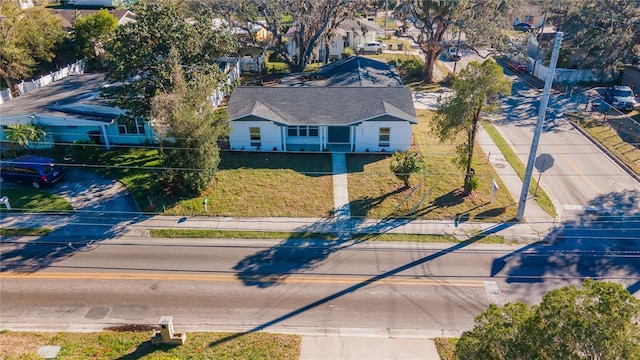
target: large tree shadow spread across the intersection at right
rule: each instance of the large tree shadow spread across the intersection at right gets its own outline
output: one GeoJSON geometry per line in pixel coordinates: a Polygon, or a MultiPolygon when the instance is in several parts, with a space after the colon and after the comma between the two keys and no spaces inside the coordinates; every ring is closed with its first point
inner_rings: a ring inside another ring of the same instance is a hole
{"type": "Polygon", "coordinates": [[[491,275],[509,283],[608,279],[640,289],[640,192],[612,192],[553,229],[542,242],[494,260],[491,275]]]}

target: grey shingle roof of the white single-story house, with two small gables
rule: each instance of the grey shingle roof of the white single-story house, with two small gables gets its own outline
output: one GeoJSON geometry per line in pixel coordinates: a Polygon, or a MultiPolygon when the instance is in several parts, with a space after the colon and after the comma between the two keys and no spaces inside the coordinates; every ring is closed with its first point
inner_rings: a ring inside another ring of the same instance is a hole
{"type": "Polygon", "coordinates": [[[416,123],[404,87],[247,87],[231,94],[231,120],[259,117],[285,125],[349,125],[390,116],[416,123]]]}

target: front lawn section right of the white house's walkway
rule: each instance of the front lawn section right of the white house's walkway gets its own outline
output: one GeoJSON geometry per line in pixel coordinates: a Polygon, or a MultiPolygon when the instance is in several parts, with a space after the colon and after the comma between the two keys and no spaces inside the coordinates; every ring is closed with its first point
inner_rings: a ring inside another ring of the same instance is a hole
{"type": "Polygon", "coordinates": [[[412,175],[412,186],[405,189],[402,181],[389,170],[390,156],[349,155],[347,168],[352,215],[499,222],[507,207],[506,218],[515,216],[515,202],[507,191],[497,191],[493,202],[489,203],[491,179],[496,179],[501,189],[505,186],[477,146],[473,168],[480,179],[479,188],[473,196],[462,196],[464,174],[451,161],[454,145],[440,144],[429,133],[434,112],[418,110],[417,113],[419,123],[414,127],[414,142],[425,157],[424,173],[412,175]]]}

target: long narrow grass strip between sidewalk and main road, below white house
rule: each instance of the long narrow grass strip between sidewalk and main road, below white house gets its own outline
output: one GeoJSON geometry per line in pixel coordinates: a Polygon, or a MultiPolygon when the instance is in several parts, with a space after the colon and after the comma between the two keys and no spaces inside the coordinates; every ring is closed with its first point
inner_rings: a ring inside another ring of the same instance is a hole
{"type": "MultiPolygon", "coordinates": [[[[287,232],[287,231],[246,231],[213,229],[152,229],[151,236],[157,238],[202,238],[202,239],[306,239],[337,240],[332,233],[287,232]]],[[[476,235],[477,236],[477,235],[476,235]]],[[[504,238],[498,235],[479,237],[479,243],[504,244],[504,238]]],[[[353,233],[352,240],[459,243],[452,235],[438,234],[393,234],[393,233],[353,233]]],[[[473,240],[474,236],[470,236],[473,240]]]]}

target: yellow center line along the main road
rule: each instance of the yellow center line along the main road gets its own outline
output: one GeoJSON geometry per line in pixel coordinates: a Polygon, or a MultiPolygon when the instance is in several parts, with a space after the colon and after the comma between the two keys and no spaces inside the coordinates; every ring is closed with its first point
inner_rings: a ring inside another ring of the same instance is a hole
{"type": "Polygon", "coordinates": [[[135,273],[1,273],[0,279],[53,279],[53,280],[152,280],[152,281],[206,281],[206,282],[245,282],[245,283],[313,283],[313,284],[359,284],[371,282],[383,285],[420,285],[420,286],[457,286],[484,287],[476,280],[441,280],[431,278],[386,277],[379,280],[374,276],[317,276],[317,275],[253,275],[253,274],[135,274],[135,273]]]}

